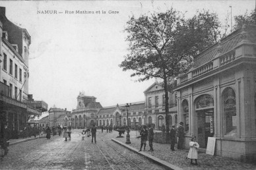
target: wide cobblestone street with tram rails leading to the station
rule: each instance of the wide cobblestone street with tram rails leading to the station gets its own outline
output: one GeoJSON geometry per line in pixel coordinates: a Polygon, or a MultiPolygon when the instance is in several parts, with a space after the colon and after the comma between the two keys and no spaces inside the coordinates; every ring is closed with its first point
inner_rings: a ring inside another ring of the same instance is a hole
{"type": "Polygon", "coordinates": [[[9,147],[9,154],[1,161],[0,169],[163,169],[148,159],[112,142],[117,132],[97,132],[97,144],[91,138],[81,140],[81,130],[73,130],[71,141],[62,136],[50,140],[38,138],[9,147]],[[119,151],[121,156],[115,150],[119,151]]]}

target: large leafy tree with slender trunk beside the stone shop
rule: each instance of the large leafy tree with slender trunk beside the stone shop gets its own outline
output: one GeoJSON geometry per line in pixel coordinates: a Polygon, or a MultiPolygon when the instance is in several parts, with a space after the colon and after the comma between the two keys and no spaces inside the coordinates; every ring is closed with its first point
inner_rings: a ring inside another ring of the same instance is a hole
{"type": "MultiPolygon", "coordinates": [[[[193,18],[174,9],[165,13],[131,16],[125,26],[129,54],[119,67],[134,71],[139,81],[162,79],[165,90],[166,130],[169,131],[170,82],[186,72],[193,56],[218,40],[220,23],[216,14],[203,11],[193,18]]],[[[168,134],[168,133],[167,133],[168,134]]]]}

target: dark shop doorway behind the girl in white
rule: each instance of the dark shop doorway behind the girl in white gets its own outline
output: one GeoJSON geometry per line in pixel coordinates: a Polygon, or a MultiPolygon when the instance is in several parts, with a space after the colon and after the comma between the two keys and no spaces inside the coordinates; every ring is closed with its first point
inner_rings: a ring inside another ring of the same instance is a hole
{"type": "Polygon", "coordinates": [[[213,109],[197,111],[197,142],[207,148],[208,137],[214,135],[213,109]]]}

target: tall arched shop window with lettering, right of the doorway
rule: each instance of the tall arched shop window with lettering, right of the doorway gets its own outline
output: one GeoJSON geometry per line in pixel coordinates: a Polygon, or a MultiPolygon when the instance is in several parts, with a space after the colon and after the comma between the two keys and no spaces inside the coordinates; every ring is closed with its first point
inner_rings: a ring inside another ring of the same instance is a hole
{"type": "Polygon", "coordinates": [[[236,94],[232,88],[223,92],[224,122],[226,135],[234,136],[237,133],[236,94]]]}

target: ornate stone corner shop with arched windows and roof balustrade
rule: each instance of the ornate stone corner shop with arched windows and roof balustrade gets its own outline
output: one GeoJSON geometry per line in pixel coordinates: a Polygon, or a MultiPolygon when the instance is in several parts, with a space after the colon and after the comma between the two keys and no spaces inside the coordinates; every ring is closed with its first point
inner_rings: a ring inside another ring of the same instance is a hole
{"type": "Polygon", "coordinates": [[[195,57],[177,78],[178,121],[186,144],[201,148],[216,138],[216,155],[241,161],[256,158],[256,27],[243,26],[195,57]]]}

